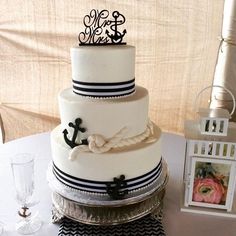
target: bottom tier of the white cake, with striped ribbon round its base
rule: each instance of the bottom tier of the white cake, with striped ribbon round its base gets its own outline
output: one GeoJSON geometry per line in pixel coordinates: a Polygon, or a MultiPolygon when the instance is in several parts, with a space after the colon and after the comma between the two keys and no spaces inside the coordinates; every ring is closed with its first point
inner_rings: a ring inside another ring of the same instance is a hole
{"type": "Polygon", "coordinates": [[[142,142],[106,153],[80,152],[69,159],[67,146],[58,126],[51,135],[53,173],[63,184],[86,192],[107,194],[114,178],[120,189],[129,192],[142,189],[161,175],[161,130],[154,126],[153,134],[142,142]]]}

